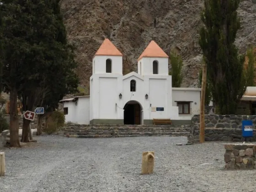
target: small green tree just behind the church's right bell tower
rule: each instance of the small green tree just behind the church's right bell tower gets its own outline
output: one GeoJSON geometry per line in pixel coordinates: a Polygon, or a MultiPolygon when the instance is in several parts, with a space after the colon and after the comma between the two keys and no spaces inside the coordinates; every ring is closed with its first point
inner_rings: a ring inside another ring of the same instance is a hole
{"type": "Polygon", "coordinates": [[[172,87],[181,87],[182,83],[182,66],[183,60],[180,55],[170,52],[170,63],[171,63],[171,71],[169,75],[171,75],[171,85],[172,87]]]}

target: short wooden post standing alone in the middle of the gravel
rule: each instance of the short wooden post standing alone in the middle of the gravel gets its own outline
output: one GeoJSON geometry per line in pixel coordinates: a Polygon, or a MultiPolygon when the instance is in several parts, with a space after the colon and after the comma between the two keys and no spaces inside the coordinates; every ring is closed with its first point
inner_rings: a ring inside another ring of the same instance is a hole
{"type": "Polygon", "coordinates": [[[142,153],[141,174],[152,174],[154,171],[155,152],[146,151],[142,153]]]}

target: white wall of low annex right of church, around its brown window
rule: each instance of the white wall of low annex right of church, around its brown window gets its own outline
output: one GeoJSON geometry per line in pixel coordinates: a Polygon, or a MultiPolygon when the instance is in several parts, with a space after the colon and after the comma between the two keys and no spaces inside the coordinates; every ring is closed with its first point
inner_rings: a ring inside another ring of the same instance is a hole
{"type": "Polygon", "coordinates": [[[179,120],[191,120],[194,115],[200,114],[201,88],[172,88],[172,105],[177,106],[175,101],[193,101],[190,103],[191,114],[179,114],[179,120]]]}

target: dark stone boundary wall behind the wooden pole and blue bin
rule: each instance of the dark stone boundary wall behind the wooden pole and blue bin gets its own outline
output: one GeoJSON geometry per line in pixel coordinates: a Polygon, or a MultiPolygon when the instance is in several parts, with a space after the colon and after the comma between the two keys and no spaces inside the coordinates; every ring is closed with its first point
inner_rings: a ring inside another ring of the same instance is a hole
{"type": "MultiPolygon", "coordinates": [[[[256,115],[205,115],[205,141],[256,141],[256,129],[252,138],[242,137],[242,120],[252,120],[256,124],[256,115]]],[[[192,117],[188,143],[199,143],[200,115],[192,117]]]]}

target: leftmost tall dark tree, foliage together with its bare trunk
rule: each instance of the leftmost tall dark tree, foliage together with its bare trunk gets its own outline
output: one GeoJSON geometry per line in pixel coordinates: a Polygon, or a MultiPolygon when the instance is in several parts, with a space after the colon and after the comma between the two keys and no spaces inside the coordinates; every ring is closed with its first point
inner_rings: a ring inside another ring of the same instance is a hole
{"type": "Polygon", "coordinates": [[[10,93],[10,143],[13,147],[20,147],[17,96],[34,70],[34,64],[27,60],[37,55],[32,52],[32,49],[36,50],[34,45],[28,42],[33,31],[33,5],[31,1],[19,0],[2,0],[2,3],[2,85],[4,91],[10,93]]]}

